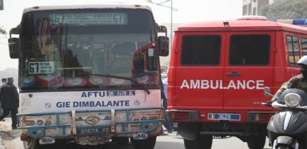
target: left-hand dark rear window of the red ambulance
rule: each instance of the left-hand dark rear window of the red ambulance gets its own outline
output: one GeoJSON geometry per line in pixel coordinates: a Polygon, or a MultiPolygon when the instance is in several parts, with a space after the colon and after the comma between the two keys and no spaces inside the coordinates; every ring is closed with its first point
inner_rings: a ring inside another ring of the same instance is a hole
{"type": "Polygon", "coordinates": [[[185,35],[182,39],[182,65],[218,65],[220,35],[185,35]]]}

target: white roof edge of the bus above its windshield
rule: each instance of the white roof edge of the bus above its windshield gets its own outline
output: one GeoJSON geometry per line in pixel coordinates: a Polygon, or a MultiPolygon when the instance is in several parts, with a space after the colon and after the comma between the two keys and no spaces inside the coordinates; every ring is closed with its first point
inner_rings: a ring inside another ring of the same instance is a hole
{"type": "Polygon", "coordinates": [[[151,12],[151,8],[147,5],[131,4],[123,2],[105,2],[105,3],[68,3],[68,4],[52,4],[38,5],[27,7],[23,13],[41,10],[63,10],[63,9],[87,9],[87,8],[131,8],[131,9],[147,9],[151,12]]]}

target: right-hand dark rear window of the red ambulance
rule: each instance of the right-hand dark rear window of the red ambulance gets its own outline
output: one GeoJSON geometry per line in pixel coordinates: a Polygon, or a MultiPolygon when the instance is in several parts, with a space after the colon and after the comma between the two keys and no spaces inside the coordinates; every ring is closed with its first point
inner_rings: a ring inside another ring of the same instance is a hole
{"type": "Polygon", "coordinates": [[[240,34],[230,37],[230,65],[268,65],[270,35],[240,34]]]}

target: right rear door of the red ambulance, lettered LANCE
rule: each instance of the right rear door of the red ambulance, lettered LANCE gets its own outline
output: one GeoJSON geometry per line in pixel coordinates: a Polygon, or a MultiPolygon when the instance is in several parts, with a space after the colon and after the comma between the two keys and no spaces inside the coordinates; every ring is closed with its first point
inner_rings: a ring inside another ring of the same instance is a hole
{"type": "Polygon", "coordinates": [[[224,110],[265,110],[264,86],[273,84],[274,31],[226,33],[224,110]]]}

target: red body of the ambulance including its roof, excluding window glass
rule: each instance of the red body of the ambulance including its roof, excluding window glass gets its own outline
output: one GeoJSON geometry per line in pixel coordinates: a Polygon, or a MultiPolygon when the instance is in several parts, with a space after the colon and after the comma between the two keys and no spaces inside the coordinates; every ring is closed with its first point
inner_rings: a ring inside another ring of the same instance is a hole
{"type": "MultiPolygon", "coordinates": [[[[248,123],[250,122],[247,118],[248,112],[273,111],[271,107],[259,104],[271,99],[263,95],[264,86],[270,87],[271,93],[275,93],[283,82],[300,73],[298,66],[289,65],[286,35],[307,38],[307,29],[303,26],[268,20],[227,20],[228,26],[223,22],[225,20],[190,22],[181,25],[175,31],[168,73],[168,110],[198,110],[199,120],[193,121],[200,122],[219,121],[208,119],[208,113],[239,113],[240,120],[230,121],[248,123]],[[183,36],[213,34],[221,37],[219,64],[182,65],[183,36]],[[231,36],[235,34],[269,35],[269,64],[247,66],[229,64],[229,42],[231,36]],[[239,75],[227,75],[231,72],[239,75]],[[212,80],[212,87],[202,88],[202,80],[205,82],[212,80]],[[184,81],[188,82],[186,83],[188,85],[182,87],[184,81]],[[243,85],[239,86],[238,83],[243,85]]],[[[299,47],[300,56],[302,56],[301,48],[299,47]]]]}

